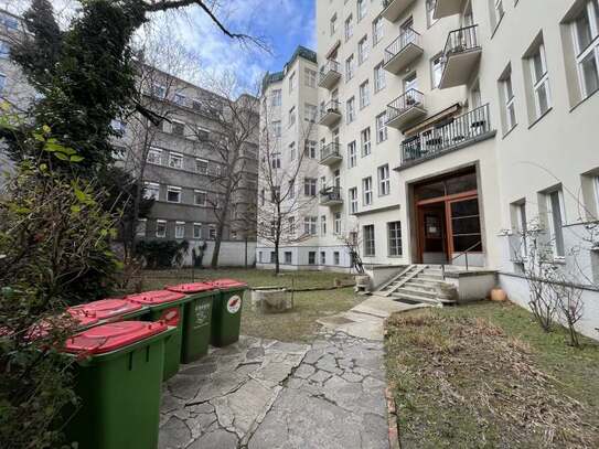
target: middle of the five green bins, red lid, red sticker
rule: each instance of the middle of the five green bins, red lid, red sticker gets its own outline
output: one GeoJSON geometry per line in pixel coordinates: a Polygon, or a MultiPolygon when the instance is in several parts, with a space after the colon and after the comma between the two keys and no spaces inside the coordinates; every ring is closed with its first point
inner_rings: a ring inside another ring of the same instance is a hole
{"type": "Polygon", "coordinates": [[[179,371],[181,360],[181,342],[183,335],[183,320],[185,302],[189,297],[169,290],[146,291],[130,295],[125,298],[148,307],[148,313],[141,319],[147,321],[164,321],[175,328],[175,332],[164,344],[164,381],[171,378],[179,371]]]}

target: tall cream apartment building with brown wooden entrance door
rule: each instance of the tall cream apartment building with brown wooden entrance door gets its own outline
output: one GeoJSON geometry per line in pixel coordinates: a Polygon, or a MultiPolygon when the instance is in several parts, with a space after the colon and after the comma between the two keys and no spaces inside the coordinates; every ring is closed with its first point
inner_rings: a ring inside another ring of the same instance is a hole
{"type": "Polygon", "coordinates": [[[525,304],[536,221],[599,318],[597,0],[319,0],[317,40],[323,260],[350,234],[366,264],[496,270],[525,304]]]}

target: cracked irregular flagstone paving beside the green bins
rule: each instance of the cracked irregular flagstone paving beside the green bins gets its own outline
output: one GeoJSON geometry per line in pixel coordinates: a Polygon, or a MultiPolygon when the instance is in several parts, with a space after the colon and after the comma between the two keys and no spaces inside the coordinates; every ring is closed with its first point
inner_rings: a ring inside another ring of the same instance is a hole
{"type": "Polygon", "coordinates": [[[383,343],[242,336],[164,386],[160,449],[388,449],[383,343]]]}

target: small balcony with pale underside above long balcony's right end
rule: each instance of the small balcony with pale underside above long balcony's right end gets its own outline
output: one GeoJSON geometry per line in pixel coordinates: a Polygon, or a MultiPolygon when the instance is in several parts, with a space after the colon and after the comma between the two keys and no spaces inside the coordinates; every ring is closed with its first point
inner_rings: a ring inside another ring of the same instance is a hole
{"type": "Polygon", "coordinates": [[[468,84],[481,58],[478,40],[479,25],[466,26],[449,33],[443,50],[443,73],[439,88],[468,84]]]}

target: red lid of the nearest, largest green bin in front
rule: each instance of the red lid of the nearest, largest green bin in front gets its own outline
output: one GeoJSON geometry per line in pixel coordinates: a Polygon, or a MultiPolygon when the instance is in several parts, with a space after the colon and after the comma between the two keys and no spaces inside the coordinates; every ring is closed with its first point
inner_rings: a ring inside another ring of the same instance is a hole
{"type": "Polygon", "coordinates": [[[66,341],[71,353],[105,354],[169,329],[164,322],[120,321],[88,329],[66,341]]]}

